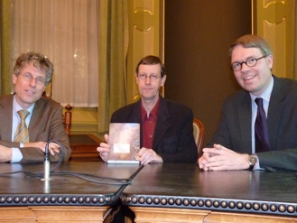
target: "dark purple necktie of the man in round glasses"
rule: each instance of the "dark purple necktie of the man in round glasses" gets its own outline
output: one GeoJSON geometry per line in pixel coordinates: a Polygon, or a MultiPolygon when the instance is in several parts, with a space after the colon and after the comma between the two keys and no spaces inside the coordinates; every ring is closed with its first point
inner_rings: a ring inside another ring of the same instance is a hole
{"type": "Polygon", "coordinates": [[[255,153],[270,151],[263,98],[255,98],[255,104],[258,106],[255,118],[255,153]]]}

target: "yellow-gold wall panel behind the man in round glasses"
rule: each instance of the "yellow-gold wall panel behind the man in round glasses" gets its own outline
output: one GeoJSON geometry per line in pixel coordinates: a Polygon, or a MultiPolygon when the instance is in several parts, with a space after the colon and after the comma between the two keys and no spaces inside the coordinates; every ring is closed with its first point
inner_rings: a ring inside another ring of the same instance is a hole
{"type": "Polygon", "coordinates": [[[253,3],[253,31],[269,42],[274,53],[273,73],[296,79],[296,1],[258,0],[253,3]]]}

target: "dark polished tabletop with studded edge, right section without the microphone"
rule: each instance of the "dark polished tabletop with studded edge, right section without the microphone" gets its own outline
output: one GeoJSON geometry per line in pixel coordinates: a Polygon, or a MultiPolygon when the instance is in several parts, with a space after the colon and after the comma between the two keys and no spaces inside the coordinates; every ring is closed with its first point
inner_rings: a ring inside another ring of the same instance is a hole
{"type": "Polygon", "coordinates": [[[296,172],[203,172],[196,164],[145,165],[121,195],[130,207],[297,216],[296,172]]]}

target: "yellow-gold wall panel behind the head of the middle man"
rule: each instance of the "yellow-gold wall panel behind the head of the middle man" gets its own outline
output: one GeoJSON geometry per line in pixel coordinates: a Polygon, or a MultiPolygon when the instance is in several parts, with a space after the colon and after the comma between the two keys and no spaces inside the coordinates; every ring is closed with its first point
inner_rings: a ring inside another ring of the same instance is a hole
{"type": "MultiPolygon", "coordinates": [[[[129,48],[127,59],[127,104],[140,98],[135,68],[146,55],[163,59],[163,0],[128,0],[129,48]]],[[[163,95],[163,88],[161,88],[163,95]]]]}

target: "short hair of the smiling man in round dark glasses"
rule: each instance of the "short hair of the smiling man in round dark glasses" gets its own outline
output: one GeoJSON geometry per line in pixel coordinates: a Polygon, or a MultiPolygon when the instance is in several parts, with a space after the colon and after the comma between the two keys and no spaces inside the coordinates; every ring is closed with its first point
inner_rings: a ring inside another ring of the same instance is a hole
{"type": "Polygon", "coordinates": [[[262,51],[263,56],[269,56],[273,54],[268,42],[265,41],[264,38],[253,35],[246,34],[244,36],[239,37],[235,42],[233,42],[229,49],[229,57],[232,56],[232,51],[237,45],[242,45],[244,48],[258,48],[262,51]]]}

